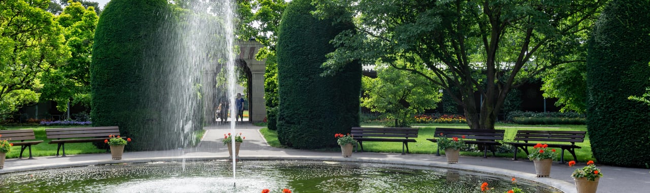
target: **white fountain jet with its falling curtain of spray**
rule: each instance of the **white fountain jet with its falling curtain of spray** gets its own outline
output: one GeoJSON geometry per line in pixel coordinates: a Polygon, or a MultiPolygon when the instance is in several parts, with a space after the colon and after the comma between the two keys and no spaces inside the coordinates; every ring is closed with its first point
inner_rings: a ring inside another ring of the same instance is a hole
{"type": "MultiPolygon", "coordinates": [[[[148,135],[180,135],[179,142],[171,141],[162,149],[179,148],[185,152],[183,147],[196,142],[194,131],[201,130],[204,122],[218,121],[216,109],[220,104],[222,110],[229,110],[231,119],[236,116],[235,108],[228,107],[234,107],[239,75],[235,69],[232,0],[188,1],[179,6],[161,14],[164,21],[152,34],[157,42],[144,50],[143,69],[152,70],[150,78],[142,80],[148,85],[142,89],[151,96],[149,100],[156,102],[142,103],[155,113],[149,120],[149,127],[156,127],[151,131],[159,131],[148,135]]],[[[235,122],[230,127],[235,133],[235,122]]],[[[235,179],[235,157],[232,168],[235,179]]]]}

